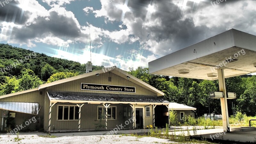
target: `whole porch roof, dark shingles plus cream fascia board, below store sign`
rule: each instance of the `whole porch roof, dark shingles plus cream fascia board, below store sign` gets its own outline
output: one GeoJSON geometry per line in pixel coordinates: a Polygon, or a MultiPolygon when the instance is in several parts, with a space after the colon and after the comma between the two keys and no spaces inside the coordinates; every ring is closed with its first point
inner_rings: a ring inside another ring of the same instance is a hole
{"type": "Polygon", "coordinates": [[[126,94],[106,94],[68,91],[47,91],[51,102],[70,103],[112,103],[112,104],[161,104],[168,105],[169,102],[163,97],[152,95],[126,95],[126,94]]]}

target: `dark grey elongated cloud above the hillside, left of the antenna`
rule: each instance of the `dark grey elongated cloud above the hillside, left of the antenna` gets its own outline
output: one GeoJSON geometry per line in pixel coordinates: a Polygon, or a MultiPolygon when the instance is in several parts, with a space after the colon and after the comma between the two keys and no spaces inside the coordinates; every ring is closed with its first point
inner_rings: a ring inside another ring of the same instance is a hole
{"type": "Polygon", "coordinates": [[[81,29],[74,19],[59,15],[56,11],[51,11],[50,16],[38,17],[35,23],[22,29],[13,28],[14,37],[20,41],[50,34],[59,38],[74,39],[81,35],[81,29]]]}

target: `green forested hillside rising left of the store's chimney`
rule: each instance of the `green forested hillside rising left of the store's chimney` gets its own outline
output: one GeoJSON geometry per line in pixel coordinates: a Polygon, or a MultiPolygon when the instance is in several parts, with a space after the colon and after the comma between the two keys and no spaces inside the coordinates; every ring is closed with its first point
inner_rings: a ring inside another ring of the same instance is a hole
{"type": "MultiPolygon", "coordinates": [[[[93,71],[102,68],[93,66],[93,71]]],[[[85,64],[0,44],[0,95],[76,76],[85,73],[85,69],[85,64]]]]}

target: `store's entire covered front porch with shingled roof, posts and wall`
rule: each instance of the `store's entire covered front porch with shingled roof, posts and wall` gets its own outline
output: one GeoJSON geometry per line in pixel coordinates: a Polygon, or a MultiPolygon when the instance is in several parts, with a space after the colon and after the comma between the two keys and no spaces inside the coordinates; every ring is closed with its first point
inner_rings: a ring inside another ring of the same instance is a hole
{"type": "Polygon", "coordinates": [[[47,95],[48,132],[147,128],[155,126],[157,118],[169,123],[169,102],[159,96],[66,91],[47,95]],[[161,110],[156,120],[155,108],[161,110]]]}

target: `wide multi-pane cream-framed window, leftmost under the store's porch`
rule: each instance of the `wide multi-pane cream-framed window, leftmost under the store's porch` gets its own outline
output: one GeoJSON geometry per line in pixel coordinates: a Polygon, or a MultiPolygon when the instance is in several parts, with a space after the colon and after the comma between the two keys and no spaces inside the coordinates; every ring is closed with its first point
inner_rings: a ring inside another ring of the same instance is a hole
{"type": "Polygon", "coordinates": [[[78,120],[79,107],[75,105],[58,105],[57,120],[78,120]]]}

